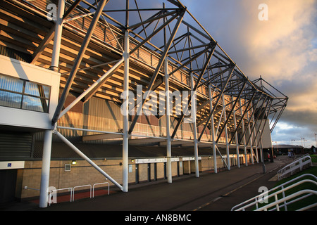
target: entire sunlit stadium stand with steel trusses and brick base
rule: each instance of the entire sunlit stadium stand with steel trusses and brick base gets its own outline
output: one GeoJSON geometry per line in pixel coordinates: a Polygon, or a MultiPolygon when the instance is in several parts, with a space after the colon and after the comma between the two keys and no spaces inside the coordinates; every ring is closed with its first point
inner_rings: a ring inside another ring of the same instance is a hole
{"type": "Polygon", "coordinates": [[[159,5],[1,1],[1,202],[264,160],[287,96],[180,1],[159,5]]]}

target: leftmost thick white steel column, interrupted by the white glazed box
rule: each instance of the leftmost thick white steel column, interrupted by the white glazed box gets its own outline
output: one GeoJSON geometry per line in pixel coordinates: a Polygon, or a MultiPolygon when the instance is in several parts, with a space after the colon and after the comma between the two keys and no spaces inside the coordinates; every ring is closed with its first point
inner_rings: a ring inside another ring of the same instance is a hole
{"type": "MultiPolygon", "coordinates": [[[[51,58],[51,70],[58,71],[59,53],[61,49],[61,34],[63,30],[63,14],[65,10],[65,0],[58,1],[58,12],[56,15],[54,45],[51,58]]],[[[42,156],[42,172],[41,184],[39,188],[39,207],[47,207],[48,191],[49,191],[49,172],[51,167],[51,141],[53,130],[44,132],[43,156],[42,156]]]]}

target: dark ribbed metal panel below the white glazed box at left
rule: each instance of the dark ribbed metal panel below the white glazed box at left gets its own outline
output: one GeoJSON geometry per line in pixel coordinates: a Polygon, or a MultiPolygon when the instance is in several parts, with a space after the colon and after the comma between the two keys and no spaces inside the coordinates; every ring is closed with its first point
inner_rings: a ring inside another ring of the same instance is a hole
{"type": "Polygon", "coordinates": [[[30,160],[32,154],[32,134],[0,132],[0,161],[30,160]]]}

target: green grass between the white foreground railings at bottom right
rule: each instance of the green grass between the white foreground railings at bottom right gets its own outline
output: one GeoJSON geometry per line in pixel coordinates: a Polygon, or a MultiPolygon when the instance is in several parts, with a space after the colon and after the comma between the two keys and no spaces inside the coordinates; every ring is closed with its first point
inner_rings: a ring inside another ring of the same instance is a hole
{"type": "MultiPolygon", "coordinates": [[[[290,181],[290,180],[296,178],[297,176],[301,176],[302,174],[313,174],[313,175],[317,176],[317,167],[310,167],[309,169],[305,169],[302,172],[299,172],[299,173],[294,174],[290,177],[282,179],[282,180],[278,181],[277,184],[275,184],[275,186],[279,186],[280,184],[284,184],[285,182],[290,181]]],[[[301,181],[303,179],[311,179],[311,178],[309,176],[306,176],[302,179],[298,179],[297,181],[294,181],[294,183],[297,183],[298,181],[301,181]]],[[[287,186],[290,186],[294,183],[287,184],[287,186]]],[[[317,186],[314,184],[311,184],[311,183],[300,184],[299,186],[296,186],[294,188],[291,188],[290,190],[285,191],[285,195],[288,196],[288,195],[291,195],[292,193],[296,193],[297,191],[301,191],[304,189],[311,189],[311,190],[317,191],[317,186]]],[[[278,189],[278,190],[280,190],[280,189],[278,189]]],[[[300,195],[299,197],[301,197],[301,196],[302,195],[300,195]]],[[[280,198],[282,198],[282,193],[278,194],[278,199],[280,199],[280,198]]],[[[273,203],[273,201],[274,201],[274,197],[269,198],[268,203],[273,203]]],[[[307,205],[311,205],[313,203],[317,203],[317,195],[311,195],[307,198],[304,198],[302,200],[297,201],[296,203],[292,203],[290,205],[287,205],[287,211],[299,210],[300,208],[305,207],[307,205]]],[[[259,204],[259,207],[262,207],[263,205],[265,205],[265,204],[264,203],[259,204]]],[[[284,211],[284,210],[285,210],[284,207],[280,207],[280,211],[284,211]]]]}

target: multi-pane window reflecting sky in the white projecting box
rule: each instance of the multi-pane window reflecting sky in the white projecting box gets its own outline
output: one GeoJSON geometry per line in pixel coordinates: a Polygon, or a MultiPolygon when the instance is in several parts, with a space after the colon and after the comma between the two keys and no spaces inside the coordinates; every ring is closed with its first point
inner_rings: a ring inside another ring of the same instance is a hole
{"type": "Polygon", "coordinates": [[[49,113],[51,87],[0,75],[0,105],[49,113]]]}

